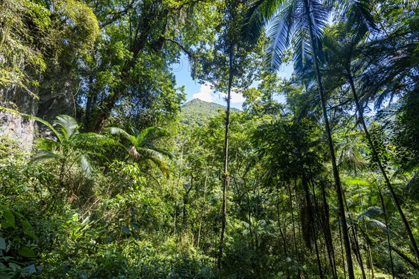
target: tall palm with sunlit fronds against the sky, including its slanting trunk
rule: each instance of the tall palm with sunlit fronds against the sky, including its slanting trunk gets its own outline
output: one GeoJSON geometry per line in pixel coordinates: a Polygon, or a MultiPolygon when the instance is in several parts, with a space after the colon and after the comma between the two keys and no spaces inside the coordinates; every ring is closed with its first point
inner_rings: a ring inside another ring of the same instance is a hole
{"type": "MultiPolygon", "coordinates": [[[[328,4],[334,1],[329,1],[328,4]]],[[[344,3],[341,5],[345,6],[344,3]]],[[[347,10],[358,13],[350,13],[360,17],[363,26],[369,26],[371,21],[365,1],[351,1],[346,3],[347,10]],[[351,4],[351,5],[348,5],[351,4]]],[[[270,22],[272,44],[269,48],[270,66],[276,69],[281,65],[288,47],[293,47],[293,60],[297,72],[302,72],[314,66],[318,95],[323,110],[323,121],[325,132],[328,138],[332,171],[335,179],[335,188],[339,203],[339,215],[342,222],[346,262],[348,266],[349,279],[353,279],[353,263],[351,257],[351,245],[349,242],[348,229],[346,224],[344,201],[342,197],[341,181],[337,168],[335,147],[332,142],[332,133],[328,120],[325,93],[322,84],[319,58],[321,55],[321,38],[323,29],[328,24],[332,6],[325,6],[318,0],[258,0],[249,10],[244,30],[247,38],[256,40],[263,32],[267,22],[270,22]]]]}

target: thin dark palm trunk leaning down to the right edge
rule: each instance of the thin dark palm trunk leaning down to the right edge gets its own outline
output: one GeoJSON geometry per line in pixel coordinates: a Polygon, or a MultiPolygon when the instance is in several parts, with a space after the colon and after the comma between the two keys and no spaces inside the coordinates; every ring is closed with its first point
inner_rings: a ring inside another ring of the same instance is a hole
{"type": "Polygon", "coordinates": [[[360,101],[359,101],[359,98],[358,98],[358,94],[356,93],[355,83],[353,82],[353,77],[352,77],[351,70],[350,70],[349,66],[347,66],[346,72],[348,74],[349,84],[351,85],[351,90],[352,90],[352,93],[353,93],[353,99],[355,100],[355,106],[356,106],[356,109],[358,110],[358,117],[359,117],[359,120],[361,122],[362,128],[364,129],[365,137],[367,137],[368,144],[369,144],[369,146],[371,148],[371,151],[372,151],[372,158],[375,161],[375,163],[378,165],[378,167],[381,171],[381,174],[384,177],[385,185],[387,186],[388,190],[390,190],[390,193],[391,193],[393,201],[395,202],[397,211],[399,212],[400,217],[402,217],[404,228],[406,229],[406,232],[409,235],[409,239],[411,241],[411,246],[413,248],[413,251],[416,254],[416,258],[419,260],[418,244],[416,243],[416,240],[413,237],[412,230],[411,230],[411,227],[409,225],[409,222],[407,221],[406,216],[404,216],[402,206],[400,206],[400,203],[399,203],[399,198],[397,197],[397,195],[395,193],[395,190],[392,188],[392,185],[390,183],[390,179],[388,179],[387,172],[385,172],[383,163],[381,162],[381,159],[378,156],[378,151],[376,150],[376,146],[372,142],[371,135],[369,134],[369,131],[368,131],[368,128],[367,128],[367,124],[365,123],[364,114],[362,113],[362,110],[361,110],[360,101]]]}

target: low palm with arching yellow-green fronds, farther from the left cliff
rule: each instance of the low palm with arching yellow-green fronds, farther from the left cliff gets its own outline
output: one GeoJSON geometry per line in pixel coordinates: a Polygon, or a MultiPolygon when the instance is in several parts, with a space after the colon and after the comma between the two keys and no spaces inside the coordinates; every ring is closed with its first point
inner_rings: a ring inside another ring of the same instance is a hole
{"type": "Polygon", "coordinates": [[[128,140],[128,154],[136,163],[151,162],[160,169],[166,178],[169,177],[169,168],[163,160],[163,156],[171,157],[171,154],[166,149],[159,149],[152,142],[152,135],[156,135],[156,132],[164,132],[163,129],[148,127],[144,130],[138,130],[131,126],[132,135],[122,128],[112,127],[108,130],[110,134],[122,135],[128,140]]]}

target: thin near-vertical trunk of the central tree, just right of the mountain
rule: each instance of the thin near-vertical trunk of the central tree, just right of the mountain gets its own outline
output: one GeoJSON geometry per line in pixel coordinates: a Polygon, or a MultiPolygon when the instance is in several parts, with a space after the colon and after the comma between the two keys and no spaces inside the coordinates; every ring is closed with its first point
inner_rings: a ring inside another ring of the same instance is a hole
{"type": "Polygon", "coordinates": [[[226,219],[227,219],[227,190],[230,185],[230,175],[228,174],[228,133],[230,129],[230,98],[231,87],[233,86],[233,42],[230,44],[230,54],[228,57],[228,91],[227,91],[227,110],[226,110],[226,133],[224,134],[224,173],[223,173],[223,206],[221,209],[221,237],[220,248],[217,267],[221,271],[224,241],[226,233],[226,219]]]}

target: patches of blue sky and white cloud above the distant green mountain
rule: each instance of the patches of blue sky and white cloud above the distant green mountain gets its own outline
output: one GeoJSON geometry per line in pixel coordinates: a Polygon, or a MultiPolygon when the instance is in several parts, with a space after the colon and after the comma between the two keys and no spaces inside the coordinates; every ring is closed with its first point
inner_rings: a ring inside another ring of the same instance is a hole
{"type": "MultiPolygon", "coordinates": [[[[225,105],[225,95],[222,93],[214,93],[210,84],[200,84],[191,78],[191,68],[189,67],[188,57],[182,55],[179,63],[172,65],[172,71],[176,76],[177,86],[185,86],[186,101],[192,99],[205,100],[207,102],[214,102],[217,104],[225,105]]],[[[278,72],[280,77],[291,77],[293,73],[293,66],[284,66],[278,72]]],[[[256,86],[256,84],[255,84],[256,86]]],[[[238,109],[242,108],[244,102],[243,96],[240,93],[232,93],[231,106],[238,109]]]]}

